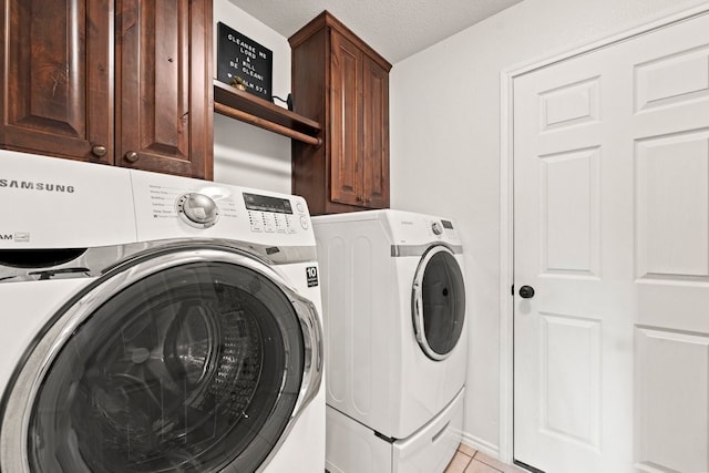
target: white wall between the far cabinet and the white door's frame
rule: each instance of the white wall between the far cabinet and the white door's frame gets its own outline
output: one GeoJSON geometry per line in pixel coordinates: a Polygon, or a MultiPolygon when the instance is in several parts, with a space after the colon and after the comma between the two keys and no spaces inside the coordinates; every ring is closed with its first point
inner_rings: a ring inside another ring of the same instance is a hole
{"type": "Polygon", "coordinates": [[[501,71],[706,0],[525,0],[394,64],[391,205],[445,215],[464,238],[470,352],[464,441],[500,445],[501,71]]]}

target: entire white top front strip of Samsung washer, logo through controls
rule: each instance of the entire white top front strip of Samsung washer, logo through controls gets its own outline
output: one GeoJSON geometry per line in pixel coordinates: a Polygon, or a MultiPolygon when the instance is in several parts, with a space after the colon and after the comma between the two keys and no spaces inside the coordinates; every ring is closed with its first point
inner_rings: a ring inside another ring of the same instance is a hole
{"type": "Polygon", "coordinates": [[[0,249],[185,237],[315,246],[302,197],[117,166],[0,150],[0,249]],[[189,193],[216,204],[214,225],[195,227],[181,218],[176,200],[189,193]]]}

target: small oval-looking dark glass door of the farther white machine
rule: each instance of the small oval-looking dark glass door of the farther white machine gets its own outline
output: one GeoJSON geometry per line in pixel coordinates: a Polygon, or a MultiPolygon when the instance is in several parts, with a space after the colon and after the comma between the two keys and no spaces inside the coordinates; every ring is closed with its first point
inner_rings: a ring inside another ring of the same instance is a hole
{"type": "Polygon", "coordinates": [[[432,360],[444,360],[455,348],[465,322],[465,285],[453,253],[430,247],[413,279],[413,328],[419,346],[432,360]]]}

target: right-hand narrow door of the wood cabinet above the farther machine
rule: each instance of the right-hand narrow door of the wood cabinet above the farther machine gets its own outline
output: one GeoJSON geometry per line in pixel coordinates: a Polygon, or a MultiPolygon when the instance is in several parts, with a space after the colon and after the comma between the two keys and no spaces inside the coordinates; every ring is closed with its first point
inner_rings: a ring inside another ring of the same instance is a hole
{"type": "Polygon", "coordinates": [[[389,207],[389,73],[362,62],[362,164],[364,206],[389,207]]]}

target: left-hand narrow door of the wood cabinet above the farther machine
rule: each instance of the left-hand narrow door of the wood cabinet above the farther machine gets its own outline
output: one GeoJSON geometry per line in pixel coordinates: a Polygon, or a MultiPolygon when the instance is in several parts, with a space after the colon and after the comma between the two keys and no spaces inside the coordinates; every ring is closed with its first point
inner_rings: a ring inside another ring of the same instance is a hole
{"type": "Polygon", "coordinates": [[[362,205],[359,121],[362,52],[337,32],[331,38],[330,199],[362,205]]]}

